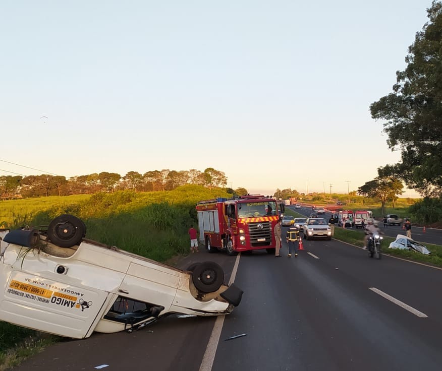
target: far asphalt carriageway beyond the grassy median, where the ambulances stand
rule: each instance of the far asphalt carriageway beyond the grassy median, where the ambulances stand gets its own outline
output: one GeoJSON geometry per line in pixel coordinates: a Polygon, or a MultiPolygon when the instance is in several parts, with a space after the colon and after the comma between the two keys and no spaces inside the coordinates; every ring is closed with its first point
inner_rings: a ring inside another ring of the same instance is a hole
{"type": "MultiPolygon", "coordinates": [[[[286,206],[287,208],[287,206],[286,206]]],[[[295,209],[294,206],[288,207],[292,211],[296,211],[302,215],[305,215],[306,217],[310,216],[310,213],[314,212],[311,207],[303,206],[301,209],[295,209]]],[[[318,215],[319,217],[324,217],[326,220],[328,220],[331,217],[331,213],[326,212],[325,215],[318,215]]],[[[406,234],[405,230],[402,229],[402,226],[398,225],[389,225],[387,228],[383,227],[383,223],[379,223],[380,229],[384,232],[386,236],[394,237],[398,234],[406,234]]],[[[348,227],[347,227],[348,228],[348,227]]],[[[362,233],[362,230],[359,228],[352,228],[353,230],[359,230],[362,233]]],[[[432,228],[425,228],[425,232],[423,232],[422,227],[411,227],[411,237],[419,242],[423,243],[433,243],[437,245],[442,245],[442,230],[440,229],[432,229],[432,228]]]]}

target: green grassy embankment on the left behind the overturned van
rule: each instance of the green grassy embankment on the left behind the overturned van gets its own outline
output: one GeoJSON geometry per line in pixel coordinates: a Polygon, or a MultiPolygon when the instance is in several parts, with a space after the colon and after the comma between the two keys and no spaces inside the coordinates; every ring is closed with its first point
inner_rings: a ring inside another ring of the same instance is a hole
{"type": "MultiPolygon", "coordinates": [[[[196,226],[196,202],[229,197],[224,190],[187,185],[164,192],[116,192],[114,194],[43,197],[0,202],[0,225],[44,226],[61,214],[81,218],[86,237],[164,262],[187,254],[188,229],[196,226]]],[[[0,322],[0,371],[19,364],[56,336],[0,322]]]]}

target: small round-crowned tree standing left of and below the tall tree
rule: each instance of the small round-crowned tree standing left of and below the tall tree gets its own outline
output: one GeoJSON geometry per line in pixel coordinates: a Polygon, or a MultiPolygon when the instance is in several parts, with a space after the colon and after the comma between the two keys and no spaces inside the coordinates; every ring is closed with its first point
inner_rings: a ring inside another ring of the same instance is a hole
{"type": "Polygon", "coordinates": [[[373,180],[365,182],[358,188],[358,194],[367,197],[378,198],[381,206],[381,213],[384,214],[385,204],[387,201],[396,200],[397,196],[404,193],[402,191],[403,184],[400,180],[392,176],[383,176],[382,169],[378,169],[379,175],[373,180]]]}

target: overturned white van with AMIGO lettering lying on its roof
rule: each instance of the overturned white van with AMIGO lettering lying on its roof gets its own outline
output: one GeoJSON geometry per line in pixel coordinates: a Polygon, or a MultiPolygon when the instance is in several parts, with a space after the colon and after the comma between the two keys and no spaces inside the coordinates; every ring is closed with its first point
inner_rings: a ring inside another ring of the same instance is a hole
{"type": "Polygon", "coordinates": [[[62,215],[47,232],[0,231],[0,320],[72,338],[132,331],[171,314],[224,315],[243,291],[214,262],[184,271],[83,238],[62,215]]]}

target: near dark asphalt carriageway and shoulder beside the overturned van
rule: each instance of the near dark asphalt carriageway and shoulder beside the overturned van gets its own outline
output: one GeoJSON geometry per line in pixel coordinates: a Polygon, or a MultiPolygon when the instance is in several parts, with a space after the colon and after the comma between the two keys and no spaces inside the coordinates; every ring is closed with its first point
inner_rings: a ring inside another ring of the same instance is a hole
{"type": "MultiPolygon", "coordinates": [[[[198,371],[206,348],[215,354],[213,371],[442,368],[442,270],[387,256],[370,259],[337,240],[304,241],[304,249],[288,258],[284,243],[283,258],[261,251],[239,258],[235,283],[243,300],[225,317],[214,347],[207,344],[215,318],[171,316],[131,334],[58,343],[14,370],[107,364],[102,369],[198,371]],[[240,334],[247,335],[225,340],[240,334]]],[[[235,259],[201,251],[181,267],[213,260],[229,277],[235,259]]]]}

